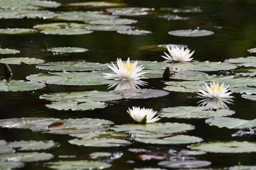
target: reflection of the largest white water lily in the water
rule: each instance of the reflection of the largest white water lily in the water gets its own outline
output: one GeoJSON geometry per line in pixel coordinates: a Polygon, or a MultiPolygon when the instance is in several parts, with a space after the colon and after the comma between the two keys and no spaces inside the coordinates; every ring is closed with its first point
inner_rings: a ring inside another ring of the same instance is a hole
{"type": "Polygon", "coordinates": [[[142,80],[126,80],[126,81],[118,81],[116,83],[110,84],[109,88],[115,87],[115,90],[123,90],[123,89],[138,89],[139,86],[147,85],[147,82],[142,80]]]}

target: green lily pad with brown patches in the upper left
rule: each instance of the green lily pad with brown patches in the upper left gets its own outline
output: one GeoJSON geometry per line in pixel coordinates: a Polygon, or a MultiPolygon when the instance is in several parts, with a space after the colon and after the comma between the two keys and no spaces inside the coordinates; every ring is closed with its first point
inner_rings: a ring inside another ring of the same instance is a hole
{"type": "Polygon", "coordinates": [[[34,29],[38,30],[49,30],[49,29],[63,29],[63,28],[75,28],[75,29],[82,29],[88,26],[87,23],[68,23],[68,22],[55,22],[55,23],[44,23],[34,26],[34,29]]]}

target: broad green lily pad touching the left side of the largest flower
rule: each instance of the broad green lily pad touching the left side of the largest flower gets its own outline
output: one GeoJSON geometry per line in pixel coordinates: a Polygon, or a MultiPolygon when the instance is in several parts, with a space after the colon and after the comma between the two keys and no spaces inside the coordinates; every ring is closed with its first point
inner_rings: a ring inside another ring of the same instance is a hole
{"type": "Polygon", "coordinates": [[[115,82],[113,80],[105,80],[102,75],[91,72],[50,72],[50,74],[30,75],[26,79],[48,84],[80,86],[112,84],[115,82]]]}

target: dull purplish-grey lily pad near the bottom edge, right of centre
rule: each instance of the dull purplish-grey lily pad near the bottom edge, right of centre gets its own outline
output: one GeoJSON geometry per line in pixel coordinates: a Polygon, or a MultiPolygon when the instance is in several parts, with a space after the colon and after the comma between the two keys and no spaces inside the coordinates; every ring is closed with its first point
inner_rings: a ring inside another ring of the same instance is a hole
{"type": "Polygon", "coordinates": [[[162,161],[158,165],[171,168],[197,168],[209,166],[211,162],[204,160],[176,160],[162,161]]]}

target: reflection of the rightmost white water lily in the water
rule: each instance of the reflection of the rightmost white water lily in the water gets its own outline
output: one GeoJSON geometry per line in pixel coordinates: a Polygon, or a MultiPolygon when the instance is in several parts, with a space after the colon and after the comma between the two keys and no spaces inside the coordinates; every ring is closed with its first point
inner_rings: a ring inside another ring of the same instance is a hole
{"type": "Polygon", "coordinates": [[[212,109],[219,110],[219,109],[229,109],[226,103],[233,104],[232,102],[233,100],[231,99],[206,98],[199,101],[198,103],[200,103],[199,106],[206,106],[212,109]]]}

